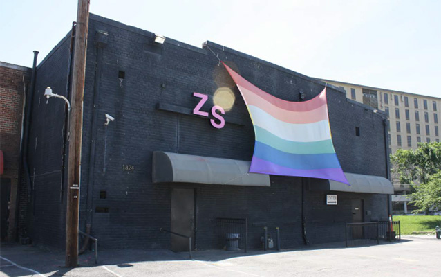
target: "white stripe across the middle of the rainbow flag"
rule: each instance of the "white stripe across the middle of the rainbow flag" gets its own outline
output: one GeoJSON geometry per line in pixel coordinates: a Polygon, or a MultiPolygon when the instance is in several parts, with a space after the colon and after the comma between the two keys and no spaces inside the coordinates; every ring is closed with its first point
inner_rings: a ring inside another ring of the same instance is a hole
{"type": "Polygon", "coordinates": [[[291,124],[278,120],[258,107],[250,106],[250,115],[254,125],[288,141],[325,141],[330,139],[328,120],[309,124],[291,124]],[[323,130],[327,130],[323,132],[323,130]]]}

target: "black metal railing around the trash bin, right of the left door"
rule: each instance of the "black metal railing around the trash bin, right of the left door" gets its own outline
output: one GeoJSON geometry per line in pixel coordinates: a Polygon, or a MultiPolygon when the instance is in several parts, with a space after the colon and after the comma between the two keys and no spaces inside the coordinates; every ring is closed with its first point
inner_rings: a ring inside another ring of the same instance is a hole
{"type": "Polygon", "coordinates": [[[219,248],[247,252],[247,219],[216,218],[219,248]]]}

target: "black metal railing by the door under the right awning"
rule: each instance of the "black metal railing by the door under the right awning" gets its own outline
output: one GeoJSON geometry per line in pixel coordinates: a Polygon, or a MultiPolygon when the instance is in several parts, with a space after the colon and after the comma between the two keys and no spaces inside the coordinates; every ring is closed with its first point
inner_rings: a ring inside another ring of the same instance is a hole
{"type": "Polygon", "coordinates": [[[380,240],[389,242],[401,240],[399,221],[346,223],[346,247],[366,244],[379,244],[380,240]]]}

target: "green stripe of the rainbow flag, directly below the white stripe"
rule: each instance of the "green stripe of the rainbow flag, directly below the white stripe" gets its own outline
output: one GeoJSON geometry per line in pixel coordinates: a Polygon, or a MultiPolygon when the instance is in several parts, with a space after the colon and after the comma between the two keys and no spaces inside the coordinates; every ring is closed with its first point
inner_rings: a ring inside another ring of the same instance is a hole
{"type": "Polygon", "coordinates": [[[270,145],[272,148],[276,148],[283,152],[292,154],[335,153],[331,139],[305,143],[281,139],[279,136],[274,136],[274,134],[256,125],[254,125],[254,131],[256,132],[256,141],[270,145]]]}

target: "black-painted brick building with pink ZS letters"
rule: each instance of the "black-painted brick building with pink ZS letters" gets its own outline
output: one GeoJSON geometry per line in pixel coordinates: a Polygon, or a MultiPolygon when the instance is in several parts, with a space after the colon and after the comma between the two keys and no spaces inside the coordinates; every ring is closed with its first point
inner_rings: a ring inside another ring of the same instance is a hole
{"type": "MultiPolygon", "coordinates": [[[[171,235],[160,229],[177,230],[171,213],[173,208],[182,210],[182,205],[188,208],[188,228],[196,249],[219,247],[219,217],[247,218],[250,248],[261,247],[263,226],[273,236],[275,227],[280,228],[283,248],[302,245],[302,213],[311,243],[344,240],[345,222],[357,220],[354,205],[361,212],[358,220],[387,219],[390,195],[330,190],[335,187],[327,180],[270,176],[266,187],[153,183],[155,151],[241,161],[252,157],[250,116],[214,54],[257,87],[285,100],[299,101],[300,93],[311,99],[325,85],[212,42],[196,48],[170,38],[158,44],[154,38],[145,30],[97,15],[90,17],[80,229],[86,231],[90,224],[100,247],[176,247],[171,245],[171,235]],[[191,111],[200,100],[194,92],[209,96],[202,108],[209,112],[220,87],[229,88],[235,101],[225,112],[225,127],[216,129],[209,118],[194,116],[191,111]],[[105,114],[115,118],[109,125],[104,124],[105,114]],[[326,205],[328,194],[337,195],[337,205],[326,205]],[[187,195],[189,202],[180,203],[180,195],[187,195]]],[[[21,201],[28,208],[29,222],[20,226],[21,233],[29,234],[34,242],[59,248],[65,243],[66,107],[55,98],[46,104],[44,89],[49,86],[53,93],[69,97],[70,48],[68,33],[37,67],[28,145],[34,190],[31,202],[21,201]]],[[[344,172],[387,178],[382,116],[348,100],[344,91],[332,86],[328,86],[328,107],[344,172]]]]}

